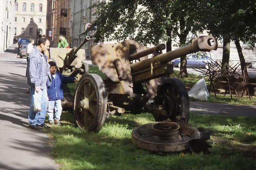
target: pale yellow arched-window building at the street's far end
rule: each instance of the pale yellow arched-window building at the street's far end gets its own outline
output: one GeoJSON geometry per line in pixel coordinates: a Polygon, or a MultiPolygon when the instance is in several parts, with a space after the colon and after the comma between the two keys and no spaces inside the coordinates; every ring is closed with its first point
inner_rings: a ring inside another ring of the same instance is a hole
{"type": "Polygon", "coordinates": [[[16,0],[14,9],[15,39],[36,41],[46,34],[47,0],[16,0]]]}

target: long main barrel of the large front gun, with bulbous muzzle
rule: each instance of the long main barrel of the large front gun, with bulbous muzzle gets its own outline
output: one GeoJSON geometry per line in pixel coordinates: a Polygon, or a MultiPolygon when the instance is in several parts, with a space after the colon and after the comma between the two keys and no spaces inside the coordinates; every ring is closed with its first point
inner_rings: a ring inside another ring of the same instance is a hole
{"type": "Polygon", "coordinates": [[[167,63],[171,60],[180,58],[181,56],[186,56],[190,53],[196,53],[199,51],[210,52],[211,50],[216,50],[217,48],[218,43],[215,37],[210,35],[199,36],[198,38],[192,39],[192,43],[188,46],[184,46],[164,54],[159,54],[150,59],[142,60],[131,64],[131,72],[134,73],[140,70],[144,70],[146,68],[150,68],[151,64],[154,66],[158,63],[167,63]],[[212,41],[214,42],[214,44],[211,44],[212,41]]]}

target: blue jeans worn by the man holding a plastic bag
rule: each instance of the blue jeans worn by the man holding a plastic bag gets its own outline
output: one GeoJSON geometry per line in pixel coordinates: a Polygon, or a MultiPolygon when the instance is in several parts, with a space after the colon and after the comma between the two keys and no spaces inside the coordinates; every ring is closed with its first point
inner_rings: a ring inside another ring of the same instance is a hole
{"type": "Polygon", "coordinates": [[[46,116],[46,109],[47,109],[47,103],[48,103],[47,88],[44,87],[44,89],[42,90],[41,111],[34,111],[34,97],[33,97],[34,94],[35,94],[35,87],[30,86],[31,103],[30,103],[29,112],[28,112],[29,125],[43,124],[46,116]]]}

